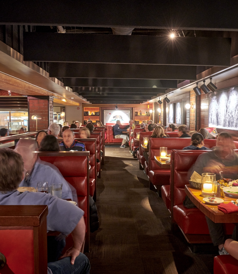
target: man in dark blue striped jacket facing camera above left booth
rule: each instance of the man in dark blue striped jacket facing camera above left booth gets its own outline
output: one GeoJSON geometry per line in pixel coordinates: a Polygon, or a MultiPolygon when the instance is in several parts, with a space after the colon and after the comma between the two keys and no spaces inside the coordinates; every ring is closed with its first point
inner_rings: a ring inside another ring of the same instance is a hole
{"type": "Polygon", "coordinates": [[[66,129],[63,132],[63,141],[59,143],[61,151],[86,151],[85,144],[75,140],[72,130],[66,129]]]}

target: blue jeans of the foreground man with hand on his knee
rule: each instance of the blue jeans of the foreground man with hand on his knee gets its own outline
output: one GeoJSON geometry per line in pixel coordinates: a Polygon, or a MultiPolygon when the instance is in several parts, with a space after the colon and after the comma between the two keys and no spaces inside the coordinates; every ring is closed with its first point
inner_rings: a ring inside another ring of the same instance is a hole
{"type": "Polygon", "coordinates": [[[53,274],[89,274],[90,263],[86,255],[80,252],[74,264],[70,263],[70,257],[65,257],[56,262],[48,263],[53,274]]]}

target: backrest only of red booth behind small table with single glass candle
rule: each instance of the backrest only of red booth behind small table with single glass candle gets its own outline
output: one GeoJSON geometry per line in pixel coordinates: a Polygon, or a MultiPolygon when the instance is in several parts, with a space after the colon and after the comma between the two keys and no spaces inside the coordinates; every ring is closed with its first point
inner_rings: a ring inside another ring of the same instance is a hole
{"type": "Polygon", "coordinates": [[[154,156],[160,155],[160,147],[167,147],[167,153],[172,149],[183,149],[191,144],[190,138],[149,138],[149,171],[162,169],[154,160],[154,156]]]}

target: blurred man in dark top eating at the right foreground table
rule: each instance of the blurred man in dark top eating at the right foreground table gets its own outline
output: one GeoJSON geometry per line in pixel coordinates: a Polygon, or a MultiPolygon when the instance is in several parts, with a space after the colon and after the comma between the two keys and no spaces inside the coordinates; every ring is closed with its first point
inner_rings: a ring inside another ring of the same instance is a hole
{"type": "MultiPolygon", "coordinates": [[[[229,133],[222,132],[217,138],[216,147],[213,151],[202,153],[191,168],[191,175],[194,171],[202,173],[215,173],[216,179],[220,179],[219,172],[223,171],[224,178],[238,178],[238,155],[234,152],[234,142],[229,133]]],[[[214,223],[206,217],[209,233],[214,246],[218,246],[219,254],[228,254],[224,248],[224,230],[222,223],[214,223]]],[[[234,232],[233,232],[234,234],[234,232]]]]}

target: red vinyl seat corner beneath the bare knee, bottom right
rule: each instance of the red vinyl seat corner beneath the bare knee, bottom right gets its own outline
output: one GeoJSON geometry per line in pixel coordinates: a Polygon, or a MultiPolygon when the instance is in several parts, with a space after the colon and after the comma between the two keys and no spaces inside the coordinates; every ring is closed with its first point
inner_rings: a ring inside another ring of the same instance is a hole
{"type": "Polygon", "coordinates": [[[219,255],[214,257],[214,274],[235,274],[238,273],[238,260],[231,255],[219,255]]]}

